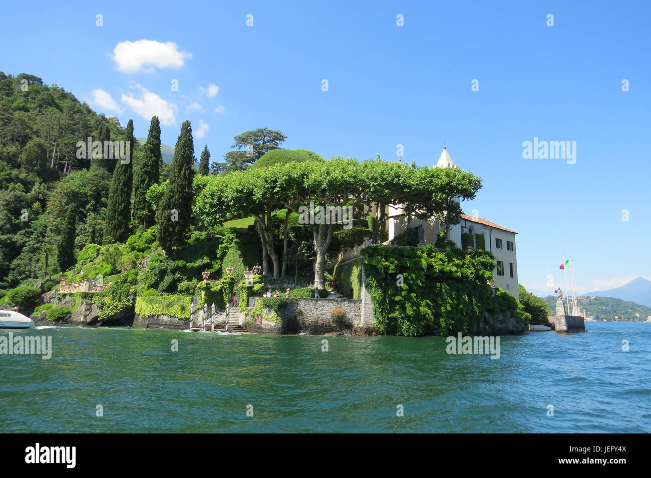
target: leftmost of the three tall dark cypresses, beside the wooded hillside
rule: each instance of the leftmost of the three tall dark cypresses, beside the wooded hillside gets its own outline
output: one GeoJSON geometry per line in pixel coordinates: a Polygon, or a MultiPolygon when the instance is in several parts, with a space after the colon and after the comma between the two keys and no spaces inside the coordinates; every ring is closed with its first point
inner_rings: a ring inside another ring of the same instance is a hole
{"type": "Polygon", "coordinates": [[[120,243],[129,236],[131,220],[131,191],[133,183],[132,157],[135,139],[133,138],[133,120],[129,120],[124,131],[124,141],[130,144],[131,155],[119,160],[113,173],[109,203],[106,206],[106,221],[104,226],[104,244],[120,243]],[[125,164],[122,164],[125,161],[125,164]]]}

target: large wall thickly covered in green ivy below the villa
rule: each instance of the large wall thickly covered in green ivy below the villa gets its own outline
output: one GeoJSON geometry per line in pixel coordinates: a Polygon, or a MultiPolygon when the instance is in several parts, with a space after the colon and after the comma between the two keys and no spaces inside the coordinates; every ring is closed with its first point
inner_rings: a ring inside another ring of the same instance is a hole
{"type": "Polygon", "coordinates": [[[506,291],[493,292],[493,255],[460,248],[444,251],[370,246],[362,251],[365,285],[380,332],[404,336],[473,334],[485,313],[508,312],[520,323],[531,315],[506,291]]]}

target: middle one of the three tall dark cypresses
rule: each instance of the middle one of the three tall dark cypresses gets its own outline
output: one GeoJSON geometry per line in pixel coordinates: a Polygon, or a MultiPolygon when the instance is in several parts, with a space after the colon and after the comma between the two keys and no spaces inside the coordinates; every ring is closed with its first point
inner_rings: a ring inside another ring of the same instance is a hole
{"type": "Polygon", "coordinates": [[[145,194],[152,185],[158,184],[161,161],[161,126],[158,116],[154,116],[142,155],[133,172],[133,222],[137,226],[143,224],[145,229],[154,223],[154,209],[145,194]]]}

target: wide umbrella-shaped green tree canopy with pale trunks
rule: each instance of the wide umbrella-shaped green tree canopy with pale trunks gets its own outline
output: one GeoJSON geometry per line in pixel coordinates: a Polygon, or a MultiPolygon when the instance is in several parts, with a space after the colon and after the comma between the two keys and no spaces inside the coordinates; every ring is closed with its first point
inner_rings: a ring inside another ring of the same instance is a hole
{"type": "MultiPolygon", "coordinates": [[[[459,169],[417,168],[383,161],[358,163],[356,159],[341,157],[329,161],[277,163],[269,168],[212,176],[202,180],[199,187],[195,183],[198,194],[195,215],[207,226],[228,219],[254,217],[262,244],[273,261],[273,276],[278,277],[271,214],[283,207],[298,213],[310,211],[307,227],[312,228],[316,252],[314,285],[324,287],[326,250],[333,232],[344,222],[370,211],[377,219],[373,232],[376,241],[380,225],[399,217],[437,217],[449,230],[462,213],[457,198],[474,198],[480,187],[480,178],[459,169]],[[348,207],[352,208],[352,217],[348,207]]],[[[284,245],[287,247],[286,241],[284,245]]]]}

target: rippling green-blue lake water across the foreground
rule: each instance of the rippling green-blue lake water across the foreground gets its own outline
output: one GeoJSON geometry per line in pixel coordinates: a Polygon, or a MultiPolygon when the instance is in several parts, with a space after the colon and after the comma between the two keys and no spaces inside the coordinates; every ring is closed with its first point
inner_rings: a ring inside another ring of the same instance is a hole
{"type": "Polygon", "coordinates": [[[587,328],[502,337],[498,360],[445,338],[13,331],[53,354],[0,355],[0,432],[651,432],[651,323],[587,328]]]}

